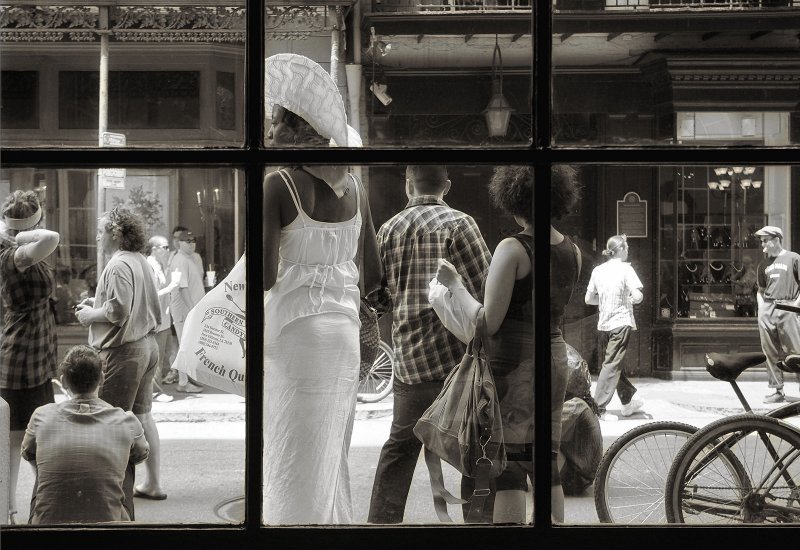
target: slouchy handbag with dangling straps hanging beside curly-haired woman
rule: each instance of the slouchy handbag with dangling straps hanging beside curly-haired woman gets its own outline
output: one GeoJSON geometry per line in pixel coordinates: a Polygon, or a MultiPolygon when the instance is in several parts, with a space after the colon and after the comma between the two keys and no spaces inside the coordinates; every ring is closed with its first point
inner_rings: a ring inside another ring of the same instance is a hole
{"type": "Polygon", "coordinates": [[[466,503],[470,508],[465,521],[480,522],[490,480],[506,467],[500,401],[483,347],[485,326],[481,308],[467,352],[414,426],[414,435],[425,447],[434,509],[444,522],[452,521],[447,504],[466,503]],[[445,489],[441,460],[475,479],[469,499],[455,497],[445,489]]]}

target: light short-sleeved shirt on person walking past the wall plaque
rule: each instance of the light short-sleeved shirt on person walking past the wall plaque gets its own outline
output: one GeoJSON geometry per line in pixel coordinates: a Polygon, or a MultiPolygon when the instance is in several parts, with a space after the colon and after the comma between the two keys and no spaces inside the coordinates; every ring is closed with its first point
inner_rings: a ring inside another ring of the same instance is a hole
{"type": "Polygon", "coordinates": [[[628,262],[611,258],[592,270],[587,294],[597,294],[597,330],[614,330],[629,326],[636,330],[631,291],[642,289],[642,282],[628,262]]]}

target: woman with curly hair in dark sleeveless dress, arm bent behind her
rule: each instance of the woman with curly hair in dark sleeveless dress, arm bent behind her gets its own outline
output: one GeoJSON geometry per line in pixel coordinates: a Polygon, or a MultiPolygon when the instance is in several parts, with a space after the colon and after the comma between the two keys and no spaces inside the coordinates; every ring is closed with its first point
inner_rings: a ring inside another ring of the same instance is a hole
{"type": "MultiPolygon", "coordinates": [[[[484,313],[487,352],[500,398],[503,439],[508,465],[494,480],[495,523],[523,523],[528,479],[533,476],[533,181],[531,166],[498,166],[489,193],[495,206],[510,214],[522,230],[500,241],[484,283],[484,313]],[[528,458],[529,457],[529,458],[528,458]]],[[[555,167],[552,187],[552,219],[568,213],[578,199],[574,171],[555,167]]],[[[552,511],[555,521],[564,520],[564,492],[558,478],[556,458],[561,438],[561,410],[568,378],[567,349],[561,334],[564,308],[578,278],[580,256],[569,238],[550,226],[551,273],[558,271],[558,287],[551,304],[551,422],[552,422],[552,511]]],[[[442,261],[436,278],[445,286],[458,284],[459,275],[442,261]]],[[[552,284],[552,283],[551,283],[552,284]]],[[[467,481],[469,484],[469,481],[467,481]]],[[[462,484],[462,495],[471,488],[462,484]]]]}

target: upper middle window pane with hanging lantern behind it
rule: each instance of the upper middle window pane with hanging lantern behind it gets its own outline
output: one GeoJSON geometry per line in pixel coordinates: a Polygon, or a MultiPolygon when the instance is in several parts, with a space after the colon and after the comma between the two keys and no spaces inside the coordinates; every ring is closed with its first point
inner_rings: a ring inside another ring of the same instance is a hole
{"type": "MultiPolygon", "coordinates": [[[[379,2],[361,10],[362,21],[353,21],[353,10],[269,5],[265,48],[267,56],[301,54],[332,74],[347,121],[364,146],[530,143],[528,2],[479,1],[446,10],[424,2],[379,2]]],[[[285,80],[279,74],[267,73],[268,97],[270,83],[285,80]]]]}

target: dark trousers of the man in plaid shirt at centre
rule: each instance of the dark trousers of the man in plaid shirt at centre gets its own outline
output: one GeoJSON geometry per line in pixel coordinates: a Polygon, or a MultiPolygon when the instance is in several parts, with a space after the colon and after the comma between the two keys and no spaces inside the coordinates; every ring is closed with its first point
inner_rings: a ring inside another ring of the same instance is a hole
{"type": "Polygon", "coordinates": [[[369,503],[368,523],[401,523],[422,442],[414,426],[442,391],[444,380],[405,384],[394,379],[389,440],[384,443],[369,503]]]}

